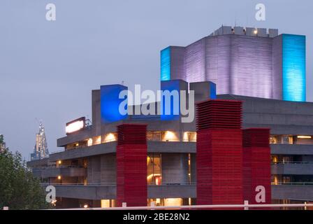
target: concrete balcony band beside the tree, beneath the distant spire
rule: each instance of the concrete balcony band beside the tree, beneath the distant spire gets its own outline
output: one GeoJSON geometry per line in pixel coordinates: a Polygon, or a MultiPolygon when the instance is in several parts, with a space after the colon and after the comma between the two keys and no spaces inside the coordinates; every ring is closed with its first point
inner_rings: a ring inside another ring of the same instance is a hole
{"type": "Polygon", "coordinates": [[[87,169],[81,167],[45,167],[34,168],[33,174],[39,178],[49,178],[57,176],[87,176],[87,169]]]}

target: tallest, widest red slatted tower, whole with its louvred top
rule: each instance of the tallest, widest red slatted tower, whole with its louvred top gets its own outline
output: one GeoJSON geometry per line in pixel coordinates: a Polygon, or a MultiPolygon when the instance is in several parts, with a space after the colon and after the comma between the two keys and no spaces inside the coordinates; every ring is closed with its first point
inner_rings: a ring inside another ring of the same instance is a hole
{"type": "Polygon", "coordinates": [[[243,204],[242,102],[197,104],[197,204],[243,204]]]}

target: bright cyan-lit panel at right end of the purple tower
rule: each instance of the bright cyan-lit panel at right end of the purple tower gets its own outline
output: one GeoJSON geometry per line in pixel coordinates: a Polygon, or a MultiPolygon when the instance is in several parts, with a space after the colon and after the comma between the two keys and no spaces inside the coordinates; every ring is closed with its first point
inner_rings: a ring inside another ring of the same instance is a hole
{"type": "Polygon", "coordinates": [[[282,34],[282,95],[286,101],[305,102],[305,36],[282,34]]]}

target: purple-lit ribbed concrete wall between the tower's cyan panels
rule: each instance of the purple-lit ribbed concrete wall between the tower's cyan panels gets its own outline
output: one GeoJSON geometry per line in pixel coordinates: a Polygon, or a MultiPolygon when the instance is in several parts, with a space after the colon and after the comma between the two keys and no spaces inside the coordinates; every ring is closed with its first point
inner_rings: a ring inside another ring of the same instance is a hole
{"type": "Polygon", "coordinates": [[[212,81],[217,84],[218,94],[272,98],[272,92],[278,96],[276,91],[281,91],[272,86],[272,66],[277,64],[272,63],[272,38],[233,34],[207,36],[184,50],[182,47],[171,49],[174,52],[170,66],[175,68],[171,69],[175,74],[171,79],[180,78],[189,83],[212,81]]]}

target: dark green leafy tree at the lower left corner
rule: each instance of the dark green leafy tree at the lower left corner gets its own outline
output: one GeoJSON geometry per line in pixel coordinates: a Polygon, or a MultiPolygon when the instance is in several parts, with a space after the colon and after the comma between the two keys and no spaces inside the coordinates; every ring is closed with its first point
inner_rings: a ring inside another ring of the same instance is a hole
{"type": "MultiPolygon", "coordinates": [[[[3,142],[3,138],[0,138],[3,142]]],[[[0,209],[48,209],[45,191],[18,152],[8,148],[0,153],[0,209]]]]}

